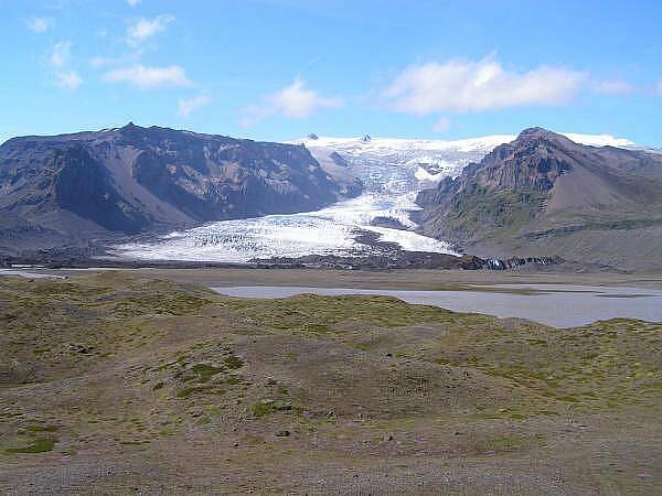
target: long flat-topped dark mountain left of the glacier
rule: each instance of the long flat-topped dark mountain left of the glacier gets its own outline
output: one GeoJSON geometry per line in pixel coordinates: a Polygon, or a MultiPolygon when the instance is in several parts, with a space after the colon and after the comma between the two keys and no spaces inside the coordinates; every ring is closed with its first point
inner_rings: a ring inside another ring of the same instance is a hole
{"type": "Polygon", "coordinates": [[[361,192],[301,145],[141,128],[13,138],[0,145],[0,245],[318,209],[361,192]]]}

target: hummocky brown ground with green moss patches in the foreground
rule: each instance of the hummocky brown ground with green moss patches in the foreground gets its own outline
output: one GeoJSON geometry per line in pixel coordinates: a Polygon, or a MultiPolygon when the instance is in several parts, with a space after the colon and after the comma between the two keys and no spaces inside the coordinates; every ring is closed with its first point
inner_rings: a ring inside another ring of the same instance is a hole
{"type": "Polygon", "coordinates": [[[0,279],[0,327],[4,492],[661,489],[656,324],[105,272],[0,279]],[[64,460],[89,478],[65,487],[64,460]]]}

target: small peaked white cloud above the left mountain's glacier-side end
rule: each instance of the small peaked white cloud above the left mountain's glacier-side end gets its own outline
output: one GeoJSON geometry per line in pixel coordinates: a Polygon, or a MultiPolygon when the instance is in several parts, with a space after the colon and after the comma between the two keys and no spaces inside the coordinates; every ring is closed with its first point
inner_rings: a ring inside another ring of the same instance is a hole
{"type": "Polygon", "coordinates": [[[305,119],[323,108],[342,106],[338,97],[324,97],[297,78],[285,88],[268,95],[261,105],[252,105],[244,108],[244,126],[250,126],[274,115],[280,114],[290,119],[305,119]]]}

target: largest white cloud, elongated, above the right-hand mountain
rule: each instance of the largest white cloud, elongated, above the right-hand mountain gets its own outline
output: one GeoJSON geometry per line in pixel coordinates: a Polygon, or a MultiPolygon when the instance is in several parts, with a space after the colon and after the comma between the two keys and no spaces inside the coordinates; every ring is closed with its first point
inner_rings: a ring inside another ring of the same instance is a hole
{"type": "Polygon", "coordinates": [[[527,72],[504,69],[491,57],[452,60],[407,67],[383,93],[395,110],[426,115],[481,111],[526,105],[559,105],[587,79],[585,73],[541,66],[527,72]]]}

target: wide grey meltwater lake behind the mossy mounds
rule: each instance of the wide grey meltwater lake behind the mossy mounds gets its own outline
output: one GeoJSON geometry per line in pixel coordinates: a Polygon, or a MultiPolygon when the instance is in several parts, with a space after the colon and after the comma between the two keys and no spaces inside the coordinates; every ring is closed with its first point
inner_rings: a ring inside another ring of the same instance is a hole
{"type": "Polygon", "coordinates": [[[377,294],[407,303],[440,306],[455,312],[521,317],[553,327],[574,327],[615,317],[662,322],[662,291],[570,284],[496,284],[480,291],[399,291],[350,288],[244,285],[213,288],[228,296],[287,298],[295,294],[377,294]],[[525,290],[521,294],[513,290],[525,290]]]}

